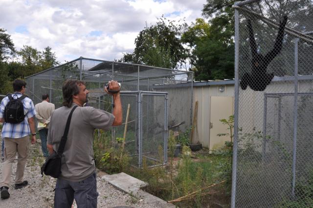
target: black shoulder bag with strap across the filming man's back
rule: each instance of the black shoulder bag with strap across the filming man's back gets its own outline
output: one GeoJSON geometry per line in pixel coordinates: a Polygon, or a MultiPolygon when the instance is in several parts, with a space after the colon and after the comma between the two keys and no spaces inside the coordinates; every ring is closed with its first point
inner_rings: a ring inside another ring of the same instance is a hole
{"type": "Polygon", "coordinates": [[[65,126],[63,137],[60,141],[58,152],[56,153],[55,151],[53,151],[53,153],[49,157],[47,157],[47,159],[45,160],[45,163],[41,167],[42,176],[44,176],[43,173],[45,173],[45,175],[47,176],[51,176],[53,178],[59,178],[61,174],[61,158],[62,158],[65,144],[67,142],[67,134],[68,134],[70,120],[71,120],[71,117],[75,108],[77,107],[78,106],[75,105],[73,109],[71,110],[71,112],[69,113],[69,116],[67,118],[67,124],[65,126]]]}

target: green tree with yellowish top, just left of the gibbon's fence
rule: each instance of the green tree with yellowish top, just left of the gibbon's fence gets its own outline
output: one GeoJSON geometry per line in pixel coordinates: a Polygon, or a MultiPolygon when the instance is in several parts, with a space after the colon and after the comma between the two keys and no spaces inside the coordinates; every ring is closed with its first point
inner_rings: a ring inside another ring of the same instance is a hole
{"type": "Polygon", "coordinates": [[[196,80],[233,78],[234,44],[224,33],[228,31],[217,31],[215,23],[206,23],[201,18],[183,33],[181,40],[189,46],[191,70],[196,80]]]}

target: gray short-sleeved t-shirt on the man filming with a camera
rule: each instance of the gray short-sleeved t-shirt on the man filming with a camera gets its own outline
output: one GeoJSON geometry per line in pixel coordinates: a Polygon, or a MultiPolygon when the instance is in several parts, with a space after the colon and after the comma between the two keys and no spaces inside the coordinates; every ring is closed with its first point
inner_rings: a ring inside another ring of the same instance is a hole
{"type": "MultiPolygon", "coordinates": [[[[47,143],[58,151],[64,134],[67,117],[72,107],[61,107],[51,115],[47,143]]],[[[73,112],[62,155],[61,179],[78,182],[88,178],[94,171],[93,133],[94,129],[109,130],[114,116],[93,107],[77,107],[73,112]]]]}

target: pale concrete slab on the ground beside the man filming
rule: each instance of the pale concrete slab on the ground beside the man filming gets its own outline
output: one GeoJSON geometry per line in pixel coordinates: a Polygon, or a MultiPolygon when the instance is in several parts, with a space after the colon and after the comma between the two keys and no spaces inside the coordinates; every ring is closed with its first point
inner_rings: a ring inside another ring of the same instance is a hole
{"type": "Polygon", "coordinates": [[[156,206],[157,208],[176,208],[175,205],[167,203],[166,201],[141,190],[141,187],[145,187],[148,184],[126,173],[104,175],[102,176],[102,179],[104,179],[117,189],[131,194],[137,198],[143,199],[144,201],[156,206]]]}

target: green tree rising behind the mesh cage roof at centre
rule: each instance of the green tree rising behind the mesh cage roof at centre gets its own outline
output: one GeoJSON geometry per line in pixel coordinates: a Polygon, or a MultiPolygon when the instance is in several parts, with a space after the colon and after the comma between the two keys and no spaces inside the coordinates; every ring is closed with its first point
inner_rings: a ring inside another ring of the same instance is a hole
{"type": "Polygon", "coordinates": [[[119,61],[171,69],[181,67],[187,57],[179,38],[182,28],[183,24],[163,17],[155,25],[146,25],[135,39],[134,52],[125,53],[119,61]]]}

